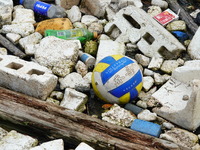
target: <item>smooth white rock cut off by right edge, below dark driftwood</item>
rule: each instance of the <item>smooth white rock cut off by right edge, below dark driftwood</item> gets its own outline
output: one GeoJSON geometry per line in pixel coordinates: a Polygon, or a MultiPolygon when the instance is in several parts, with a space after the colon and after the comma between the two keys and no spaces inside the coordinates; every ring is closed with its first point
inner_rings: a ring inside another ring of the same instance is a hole
{"type": "Polygon", "coordinates": [[[188,46],[188,54],[192,59],[200,59],[200,27],[196,31],[195,35],[193,36],[189,46],[188,46]]]}

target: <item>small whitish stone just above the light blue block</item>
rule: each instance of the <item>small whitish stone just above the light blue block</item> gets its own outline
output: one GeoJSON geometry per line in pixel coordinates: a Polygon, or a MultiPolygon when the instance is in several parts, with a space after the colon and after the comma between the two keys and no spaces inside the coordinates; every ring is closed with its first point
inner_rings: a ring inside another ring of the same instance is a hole
{"type": "Polygon", "coordinates": [[[137,115],[137,118],[145,121],[154,121],[157,119],[157,115],[145,109],[137,115]]]}

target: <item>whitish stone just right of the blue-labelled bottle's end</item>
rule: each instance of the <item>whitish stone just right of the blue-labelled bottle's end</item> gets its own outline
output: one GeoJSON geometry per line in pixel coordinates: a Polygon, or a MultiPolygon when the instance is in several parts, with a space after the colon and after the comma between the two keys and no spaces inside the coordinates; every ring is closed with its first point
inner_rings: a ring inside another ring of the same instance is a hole
{"type": "Polygon", "coordinates": [[[81,11],[78,6],[72,6],[72,8],[67,10],[66,13],[72,23],[81,21],[81,11]]]}

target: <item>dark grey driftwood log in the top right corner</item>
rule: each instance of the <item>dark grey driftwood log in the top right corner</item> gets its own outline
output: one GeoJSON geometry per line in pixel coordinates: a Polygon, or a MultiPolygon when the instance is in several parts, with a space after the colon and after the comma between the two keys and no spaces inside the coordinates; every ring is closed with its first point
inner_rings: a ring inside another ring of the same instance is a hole
{"type": "Polygon", "coordinates": [[[198,29],[198,25],[194,22],[193,18],[189,15],[188,12],[186,12],[182,6],[179,5],[177,0],[166,0],[169,4],[169,8],[173,10],[175,13],[178,13],[180,11],[179,16],[182,20],[185,21],[187,24],[187,27],[191,31],[191,33],[194,35],[198,29]]]}

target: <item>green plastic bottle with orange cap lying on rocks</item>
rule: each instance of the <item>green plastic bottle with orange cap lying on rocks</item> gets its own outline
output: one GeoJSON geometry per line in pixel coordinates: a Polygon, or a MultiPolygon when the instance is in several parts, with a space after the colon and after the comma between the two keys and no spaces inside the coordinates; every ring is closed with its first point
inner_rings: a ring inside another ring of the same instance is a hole
{"type": "Polygon", "coordinates": [[[81,43],[97,38],[97,32],[90,32],[84,28],[69,30],[46,30],[45,36],[55,36],[65,40],[80,40],[81,43]]]}

